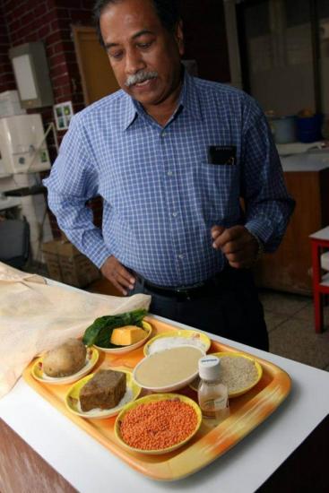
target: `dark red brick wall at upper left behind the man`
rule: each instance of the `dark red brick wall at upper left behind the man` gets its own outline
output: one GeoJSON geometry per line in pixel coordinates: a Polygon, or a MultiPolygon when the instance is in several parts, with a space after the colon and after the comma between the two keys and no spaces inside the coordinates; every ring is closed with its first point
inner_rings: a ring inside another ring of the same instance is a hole
{"type": "MultiPolygon", "coordinates": [[[[71,26],[91,23],[92,4],[93,0],[2,1],[10,45],[44,42],[55,104],[72,100],[74,111],[82,109],[84,104],[71,26]]],[[[53,119],[51,111],[51,108],[40,110],[46,125],[53,119]]],[[[62,137],[63,132],[59,132],[59,140],[62,137]]]]}

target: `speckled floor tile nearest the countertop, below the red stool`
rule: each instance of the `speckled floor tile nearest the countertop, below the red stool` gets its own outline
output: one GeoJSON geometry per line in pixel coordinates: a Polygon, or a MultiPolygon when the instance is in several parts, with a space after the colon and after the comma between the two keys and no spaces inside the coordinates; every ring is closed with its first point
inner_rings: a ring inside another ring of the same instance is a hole
{"type": "Polygon", "coordinates": [[[316,368],[329,365],[329,330],[316,334],[312,324],[296,317],[269,333],[270,350],[316,368]]]}

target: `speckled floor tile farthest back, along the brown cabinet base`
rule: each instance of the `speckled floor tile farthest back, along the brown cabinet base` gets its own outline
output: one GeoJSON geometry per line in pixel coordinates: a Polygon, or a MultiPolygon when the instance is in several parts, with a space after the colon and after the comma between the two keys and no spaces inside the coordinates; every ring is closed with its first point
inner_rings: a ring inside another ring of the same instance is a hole
{"type": "Polygon", "coordinates": [[[294,315],[301,308],[307,307],[311,302],[311,298],[306,296],[276,291],[261,291],[259,298],[266,311],[284,316],[294,315]]]}

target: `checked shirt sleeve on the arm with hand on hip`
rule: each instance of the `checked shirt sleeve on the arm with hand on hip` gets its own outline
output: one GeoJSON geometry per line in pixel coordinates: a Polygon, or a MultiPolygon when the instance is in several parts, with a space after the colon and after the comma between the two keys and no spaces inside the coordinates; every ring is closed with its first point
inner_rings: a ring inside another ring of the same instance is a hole
{"type": "Polygon", "coordinates": [[[87,205],[98,195],[97,162],[78,117],[72,119],[50,176],[43,183],[48,188],[48,205],[59,228],[100,268],[111,253],[101,229],[93,224],[93,214],[87,205]]]}

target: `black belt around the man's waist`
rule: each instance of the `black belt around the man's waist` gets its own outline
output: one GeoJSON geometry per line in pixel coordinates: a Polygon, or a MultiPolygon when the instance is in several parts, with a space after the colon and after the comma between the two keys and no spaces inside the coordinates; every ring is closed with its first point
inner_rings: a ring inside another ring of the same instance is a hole
{"type": "Polygon", "coordinates": [[[193,299],[203,298],[214,294],[219,288],[228,287],[232,280],[231,269],[226,267],[211,278],[190,286],[159,286],[153,284],[140,274],[135,272],[137,281],[148,291],[168,298],[193,299]]]}

